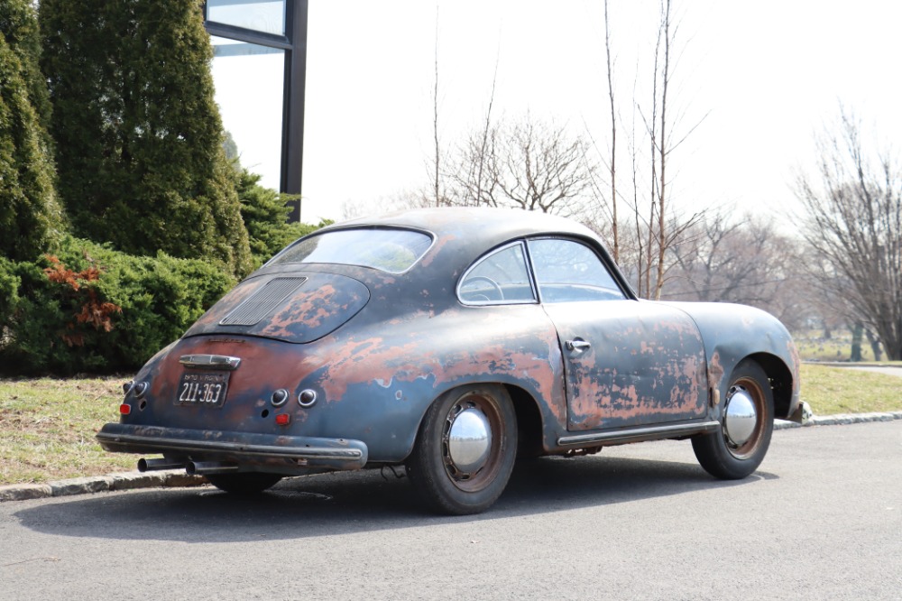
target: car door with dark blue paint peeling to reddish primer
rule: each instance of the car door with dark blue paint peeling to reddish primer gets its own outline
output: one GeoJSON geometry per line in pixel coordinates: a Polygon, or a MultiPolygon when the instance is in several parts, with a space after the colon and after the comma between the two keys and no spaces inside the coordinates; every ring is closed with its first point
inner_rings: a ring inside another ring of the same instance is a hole
{"type": "Polygon", "coordinates": [[[704,345],[685,313],[655,303],[603,301],[548,307],[566,356],[569,430],[637,426],[704,416],[704,345]],[[603,309],[600,310],[600,309],[603,309]]]}

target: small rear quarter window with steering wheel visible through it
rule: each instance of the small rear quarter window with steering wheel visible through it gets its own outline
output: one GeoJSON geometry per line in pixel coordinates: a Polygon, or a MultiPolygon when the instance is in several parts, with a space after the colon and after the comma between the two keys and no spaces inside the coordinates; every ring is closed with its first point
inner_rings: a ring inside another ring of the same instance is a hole
{"type": "Polygon", "coordinates": [[[535,302],[523,244],[504,246],[477,261],[457,286],[457,296],[470,305],[535,302]]]}

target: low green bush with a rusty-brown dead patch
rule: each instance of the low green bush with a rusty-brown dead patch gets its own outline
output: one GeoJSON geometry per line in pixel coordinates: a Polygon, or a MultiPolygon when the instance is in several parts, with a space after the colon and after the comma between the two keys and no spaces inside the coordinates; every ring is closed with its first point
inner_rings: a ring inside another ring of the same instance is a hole
{"type": "Polygon", "coordinates": [[[133,371],[234,284],[203,261],[65,237],[37,263],[0,258],[0,373],[133,371]]]}

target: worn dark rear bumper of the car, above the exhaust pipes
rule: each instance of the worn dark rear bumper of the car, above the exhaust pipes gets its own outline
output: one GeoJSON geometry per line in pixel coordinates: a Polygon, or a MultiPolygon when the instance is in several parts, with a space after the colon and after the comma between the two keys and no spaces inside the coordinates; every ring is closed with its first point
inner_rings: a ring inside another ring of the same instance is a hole
{"type": "Polygon", "coordinates": [[[107,423],[97,433],[105,450],[114,453],[162,453],[167,457],[228,461],[248,467],[349,470],[364,467],[366,444],[352,439],[275,436],[222,430],[189,430],[107,423]]]}

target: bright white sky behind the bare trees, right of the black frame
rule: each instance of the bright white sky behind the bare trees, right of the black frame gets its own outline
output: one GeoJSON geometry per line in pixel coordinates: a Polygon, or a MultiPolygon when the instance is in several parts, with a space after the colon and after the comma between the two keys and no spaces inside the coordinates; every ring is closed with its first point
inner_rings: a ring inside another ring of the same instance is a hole
{"type": "MultiPolygon", "coordinates": [[[[682,206],[792,206],[794,172],[813,161],[814,134],[840,102],[885,139],[902,134],[902,3],[684,0],[678,9],[671,106],[686,113],[684,130],[707,114],[671,163],[682,206]]],[[[611,0],[610,10],[629,118],[634,79],[650,77],[658,0],[611,0]]],[[[379,212],[428,182],[436,11],[442,143],[484,117],[497,60],[494,116],[529,112],[607,147],[602,0],[311,0],[303,221],[340,219],[346,201],[379,212]]]]}

